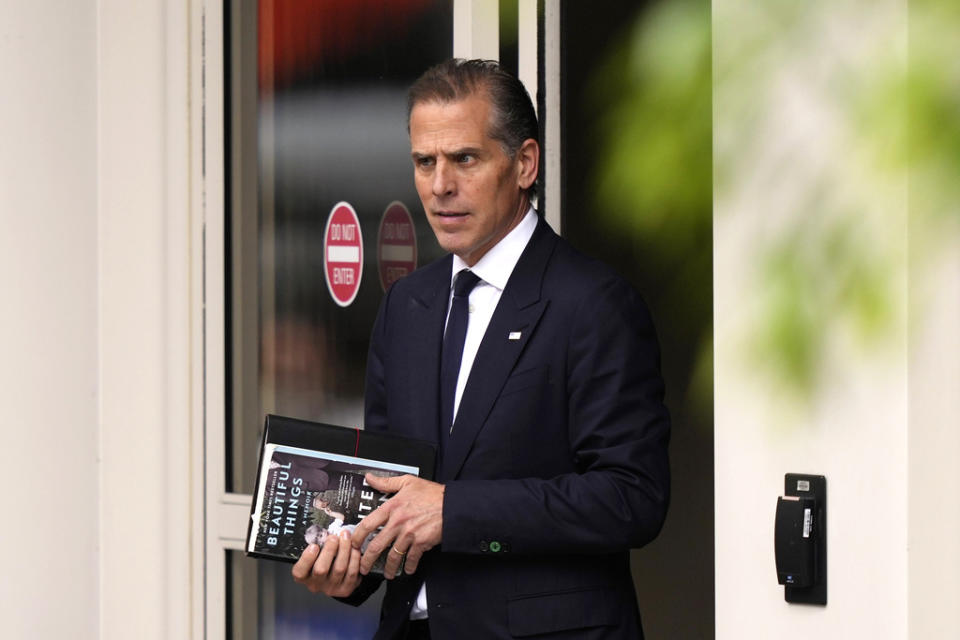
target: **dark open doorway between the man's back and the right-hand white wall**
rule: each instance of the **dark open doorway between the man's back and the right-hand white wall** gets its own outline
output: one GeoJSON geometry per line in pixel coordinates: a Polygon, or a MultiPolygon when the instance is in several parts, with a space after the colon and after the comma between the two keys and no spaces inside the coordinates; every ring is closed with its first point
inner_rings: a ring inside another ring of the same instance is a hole
{"type": "Polygon", "coordinates": [[[646,299],[673,420],[670,512],[633,553],[644,630],[711,638],[710,1],[561,6],[564,235],[646,299]]]}

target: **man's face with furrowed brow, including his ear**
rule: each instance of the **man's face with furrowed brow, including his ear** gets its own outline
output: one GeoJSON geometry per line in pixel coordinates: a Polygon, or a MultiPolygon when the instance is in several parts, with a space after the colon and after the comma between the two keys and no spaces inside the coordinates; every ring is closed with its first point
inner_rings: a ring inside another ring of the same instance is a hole
{"type": "Polygon", "coordinates": [[[424,102],[410,113],[414,181],[437,242],[473,266],[527,212],[539,148],[527,140],[511,158],[487,135],[483,94],[424,102]]]}

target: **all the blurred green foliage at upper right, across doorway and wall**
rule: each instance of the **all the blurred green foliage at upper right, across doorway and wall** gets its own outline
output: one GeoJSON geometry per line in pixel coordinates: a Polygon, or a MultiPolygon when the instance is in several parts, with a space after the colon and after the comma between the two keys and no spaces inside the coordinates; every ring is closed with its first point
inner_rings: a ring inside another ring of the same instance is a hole
{"type": "Polygon", "coordinates": [[[877,20],[869,2],[652,2],[602,43],[584,92],[595,210],[675,285],[678,315],[710,298],[697,254],[714,195],[755,210],[740,352],[800,399],[838,339],[866,353],[898,335],[903,234],[923,238],[923,260],[960,223],[960,2],[904,7],[877,20]]]}

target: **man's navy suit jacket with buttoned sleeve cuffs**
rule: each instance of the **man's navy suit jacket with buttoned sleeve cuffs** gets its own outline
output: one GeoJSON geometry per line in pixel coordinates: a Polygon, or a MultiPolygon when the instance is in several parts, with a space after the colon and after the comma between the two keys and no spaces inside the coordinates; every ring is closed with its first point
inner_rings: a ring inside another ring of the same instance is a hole
{"type": "MultiPolygon", "coordinates": [[[[385,296],[367,429],[438,442],[450,273],[447,256],[385,296]]],[[[388,583],[376,637],[402,637],[426,579],[434,638],[641,638],[629,550],[666,515],[669,430],[643,301],[541,219],[443,443],[441,545],[388,583]]]]}

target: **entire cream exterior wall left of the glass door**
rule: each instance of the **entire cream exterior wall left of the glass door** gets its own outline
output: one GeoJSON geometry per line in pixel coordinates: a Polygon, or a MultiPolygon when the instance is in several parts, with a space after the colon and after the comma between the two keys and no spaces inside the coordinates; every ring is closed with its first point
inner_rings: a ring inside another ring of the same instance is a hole
{"type": "Polygon", "coordinates": [[[200,628],[190,7],[0,5],[4,637],[200,628]]]}

